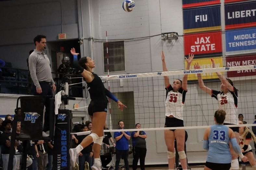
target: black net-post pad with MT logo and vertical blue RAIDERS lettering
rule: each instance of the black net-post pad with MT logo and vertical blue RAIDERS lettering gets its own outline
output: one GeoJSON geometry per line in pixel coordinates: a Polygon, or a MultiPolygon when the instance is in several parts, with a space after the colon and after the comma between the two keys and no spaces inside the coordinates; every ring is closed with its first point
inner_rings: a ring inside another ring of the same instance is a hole
{"type": "Polygon", "coordinates": [[[70,170],[70,120],[70,110],[58,111],[53,147],[54,170],[70,170]]]}

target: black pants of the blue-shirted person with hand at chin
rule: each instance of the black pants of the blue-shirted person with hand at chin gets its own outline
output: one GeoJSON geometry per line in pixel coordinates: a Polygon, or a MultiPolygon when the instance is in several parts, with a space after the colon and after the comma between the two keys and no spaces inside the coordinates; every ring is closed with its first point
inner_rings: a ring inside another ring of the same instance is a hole
{"type": "Polygon", "coordinates": [[[137,169],[138,161],[140,159],[140,169],[145,170],[145,157],[147,148],[133,147],[133,170],[137,169]]]}

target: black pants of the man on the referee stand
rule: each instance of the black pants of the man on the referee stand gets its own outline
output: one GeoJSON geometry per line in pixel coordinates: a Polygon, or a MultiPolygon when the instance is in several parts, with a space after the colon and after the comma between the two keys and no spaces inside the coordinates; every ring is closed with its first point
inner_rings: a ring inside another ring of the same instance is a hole
{"type": "MultiPolygon", "coordinates": [[[[40,86],[42,88],[42,93],[41,94],[38,94],[36,92],[36,87],[35,85],[33,84],[32,85],[32,89],[31,89],[31,94],[34,95],[34,96],[52,96],[52,86],[47,83],[47,82],[39,82],[40,83],[40,86]]],[[[50,100],[49,98],[45,98],[45,122],[44,122],[44,127],[43,127],[43,130],[46,132],[46,131],[49,131],[50,130],[50,100]]]]}

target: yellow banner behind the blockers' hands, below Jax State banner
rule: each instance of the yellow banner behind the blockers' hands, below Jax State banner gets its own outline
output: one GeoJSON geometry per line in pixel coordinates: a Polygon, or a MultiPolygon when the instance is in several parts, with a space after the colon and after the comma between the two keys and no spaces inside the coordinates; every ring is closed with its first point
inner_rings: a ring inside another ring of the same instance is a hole
{"type": "MultiPolygon", "coordinates": [[[[222,57],[214,57],[212,58],[215,62],[215,66],[223,67],[223,59],[222,57]]],[[[190,64],[190,69],[194,69],[194,64],[198,63],[201,69],[212,68],[211,58],[197,58],[193,59],[192,63],[190,64]]],[[[185,68],[187,66],[187,62],[185,60],[185,68]]],[[[202,73],[201,74],[203,80],[216,80],[219,79],[216,73],[202,73]]],[[[188,74],[188,79],[190,82],[197,81],[197,73],[195,74],[188,74]]]]}

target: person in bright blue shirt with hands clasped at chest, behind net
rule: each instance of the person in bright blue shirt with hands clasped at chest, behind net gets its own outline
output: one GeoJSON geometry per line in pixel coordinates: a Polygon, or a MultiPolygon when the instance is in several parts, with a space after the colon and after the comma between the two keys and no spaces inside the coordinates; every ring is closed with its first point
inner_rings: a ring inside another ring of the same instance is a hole
{"type": "MultiPolygon", "coordinates": [[[[118,122],[119,129],[124,128],[123,121],[118,122]]],[[[130,132],[115,132],[114,138],[116,139],[116,165],[115,170],[118,170],[121,157],[124,160],[125,170],[129,170],[128,152],[130,132]]]]}

